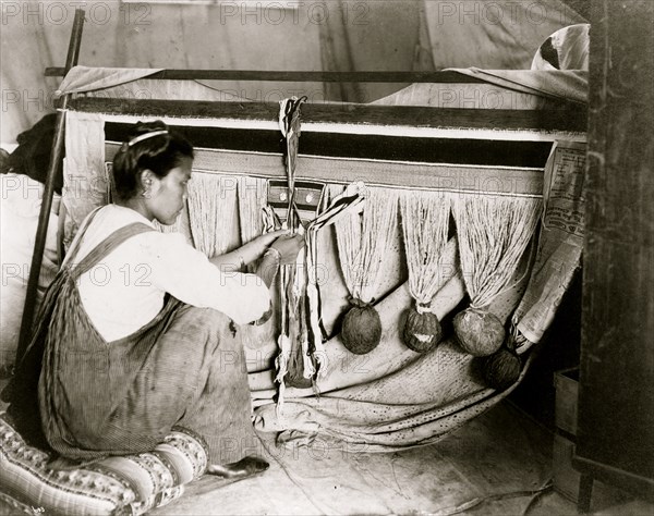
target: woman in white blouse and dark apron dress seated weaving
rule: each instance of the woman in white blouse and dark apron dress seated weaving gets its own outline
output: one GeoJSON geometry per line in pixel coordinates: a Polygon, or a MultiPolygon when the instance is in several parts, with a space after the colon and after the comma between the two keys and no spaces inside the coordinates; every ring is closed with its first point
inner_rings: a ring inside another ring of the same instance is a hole
{"type": "Polygon", "coordinates": [[[267,467],[249,457],[238,324],[269,316],[268,288],[303,239],[269,233],[207,259],[156,231],[180,216],[192,163],[191,144],[162,122],[137,124],[113,160],[116,204],[85,219],[46,294],[8,414],[22,433],[40,429],[28,437],[60,465],[145,452],[182,427],[206,442],[208,472],[267,467]],[[238,272],[258,258],[256,274],[238,272]]]}

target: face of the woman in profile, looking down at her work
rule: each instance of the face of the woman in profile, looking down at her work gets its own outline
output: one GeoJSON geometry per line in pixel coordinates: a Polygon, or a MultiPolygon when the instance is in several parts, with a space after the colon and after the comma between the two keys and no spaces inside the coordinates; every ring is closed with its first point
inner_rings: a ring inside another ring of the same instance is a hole
{"type": "Polygon", "coordinates": [[[150,176],[149,195],[145,205],[150,216],[164,225],[174,224],[177,218],[184,209],[187,185],[191,180],[193,159],[182,158],[180,165],[172,169],[166,177],[150,176]]]}

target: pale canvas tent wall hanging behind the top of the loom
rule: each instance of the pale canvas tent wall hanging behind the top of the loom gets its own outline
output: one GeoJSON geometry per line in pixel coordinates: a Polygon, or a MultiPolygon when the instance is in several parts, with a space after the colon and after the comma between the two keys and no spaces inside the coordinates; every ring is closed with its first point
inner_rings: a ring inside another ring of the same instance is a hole
{"type": "MultiPolygon", "coordinates": [[[[0,142],[13,143],[53,110],[75,7],[86,8],[80,63],[100,66],[428,71],[529,69],[541,42],[584,21],[582,1],[328,0],[2,2],[0,142]],[[278,9],[281,5],[284,9],[278,9]],[[577,10],[576,10],[577,9],[577,10]],[[26,65],[29,63],[29,65],[26,65]]],[[[370,102],[402,84],[207,83],[223,95],[370,102]]],[[[147,90],[140,94],[148,96],[147,90]]],[[[465,98],[457,99],[465,102],[465,98]]],[[[461,106],[462,107],[462,106],[461,106]]]]}

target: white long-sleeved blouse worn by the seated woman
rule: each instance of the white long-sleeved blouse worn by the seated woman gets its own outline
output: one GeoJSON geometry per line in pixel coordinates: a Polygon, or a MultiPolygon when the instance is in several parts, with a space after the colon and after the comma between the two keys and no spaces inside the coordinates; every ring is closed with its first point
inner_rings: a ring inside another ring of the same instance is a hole
{"type": "MultiPolygon", "coordinates": [[[[154,228],[129,208],[108,205],[98,210],[75,262],[116,230],[133,222],[154,228]]],[[[268,310],[270,294],[259,277],[237,272],[237,267],[221,271],[183,235],[155,230],[128,238],[80,277],[77,290],[86,314],[107,342],[147,324],[164,307],[166,293],[192,306],[219,310],[244,324],[268,310]]]]}

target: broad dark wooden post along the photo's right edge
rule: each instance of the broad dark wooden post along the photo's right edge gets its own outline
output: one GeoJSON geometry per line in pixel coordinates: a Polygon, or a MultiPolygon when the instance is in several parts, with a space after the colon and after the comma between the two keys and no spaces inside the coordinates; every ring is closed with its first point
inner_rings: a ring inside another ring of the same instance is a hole
{"type": "Polygon", "coordinates": [[[593,8],[574,464],[654,497],[654,2],[593,8]]]}

